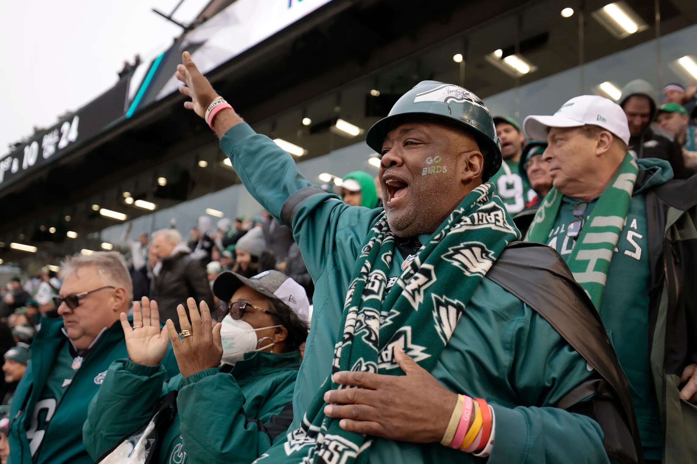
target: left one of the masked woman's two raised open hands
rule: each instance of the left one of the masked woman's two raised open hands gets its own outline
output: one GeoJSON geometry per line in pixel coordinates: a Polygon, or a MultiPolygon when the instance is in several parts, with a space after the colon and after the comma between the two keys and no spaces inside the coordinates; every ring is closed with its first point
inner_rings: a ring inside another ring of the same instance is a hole
{"type": "Polygon", "coordinates": [[[128,317],[121,313],[121,326],[126,339],[128,358],[137,364],[156,366],[160,364],[169,347],[167,328],[160,330],[158,303],[144,296],[141,303],[133,302],[133,327],[128,317]]]}

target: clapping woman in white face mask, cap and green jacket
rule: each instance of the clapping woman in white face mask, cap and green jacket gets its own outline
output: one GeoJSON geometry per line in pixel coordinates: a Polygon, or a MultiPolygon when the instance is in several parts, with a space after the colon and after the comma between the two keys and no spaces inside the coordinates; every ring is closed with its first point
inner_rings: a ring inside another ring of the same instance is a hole
{"type": "Polygon", "coordinates": [[[171,321],[160,330],[157,305],[146,299],[142,311],[134,305],[133,328],[122,321],[130,359],[109,367],[83,427],[95,461],[251,463],[284,436],[307,338],[305,290],[277,271],[249,279],[227,271],[213,293],[227,302],[217,311],[222,323],[206,303],[199,314],[192,298],[191,321],[178,307],[181,334],[171,321]],[[170,339],[181,374],[165,381],[158,360],[170,339]]]}

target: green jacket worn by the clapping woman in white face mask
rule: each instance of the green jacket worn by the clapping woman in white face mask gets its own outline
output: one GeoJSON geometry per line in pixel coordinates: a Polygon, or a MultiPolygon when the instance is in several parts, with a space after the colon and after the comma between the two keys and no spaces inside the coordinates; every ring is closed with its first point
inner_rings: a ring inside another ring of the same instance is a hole
{"type": "Polygon", "coordinates": [[[128,359],[109,366],[83,427],[84,445],[94,459],[138,431],[151,419],[158,399],[178,391],[177,414],[160,438],[160,464],[251,463],[293,418],[293,385],[300,351],[256,351],[221,369],[164,381],[164,367],[128,359]]]}

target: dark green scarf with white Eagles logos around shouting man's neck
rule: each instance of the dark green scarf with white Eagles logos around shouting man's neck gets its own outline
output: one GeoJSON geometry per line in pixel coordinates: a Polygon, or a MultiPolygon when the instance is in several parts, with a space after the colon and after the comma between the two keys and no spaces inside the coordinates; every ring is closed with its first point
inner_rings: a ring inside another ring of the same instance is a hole
{"type": "MultiPolygon", "coordinates": [[[[498,255],[520,232],[487,182],[471,191],[424,243],[397,283],[386,291],[395,236],[383,214],[356,260],[344,303],[342,332],[332,374],[367,371],[404,375],[394,358],[399,346],[431,371],[472,294],[498,255]]],[[[299,429],[259,464],[361,463],[372,438],[344,431],[324,415],[324,394],[343,386],[328,377],[310,403],[299,429]]]]}

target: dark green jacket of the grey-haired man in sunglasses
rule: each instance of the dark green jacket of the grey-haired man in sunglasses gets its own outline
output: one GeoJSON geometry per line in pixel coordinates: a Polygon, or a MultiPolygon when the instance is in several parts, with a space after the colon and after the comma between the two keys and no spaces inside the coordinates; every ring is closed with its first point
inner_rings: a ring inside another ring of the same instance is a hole
{"type": "MultiPolygon", "coordinates": [[[[10,411],[9,462],[13,464],[81,464],[93,463],[82,444],[82,424],[87,418],[89,400],[98,392],[104,376],[113,360],[128,357],[121,323],[116,321],[107,328],[82,367],[75,371],[70,385],[64,387],[63,396],[56,404],[54,399],[41,399],[47,378],[57,353],[63,349],[68,337],[63,334],[63,319],[41,319],[41,329],[31,344],[31,362],[22,377],[10,411]],[[39,401],[40,400],[40,401],[39,401]],[[41,422],[47,422],[45,431],[41,422]],[[39,429],[37,431],[37,429],[39,429]],[[31,437],[31,440],[30,438],[31,437]],[[30,441],[38,440],[38,448],[31,456],[30,441]],[[61,454],[42,453],[42,445],[52,442],[52,448],[61,454]]],[[[163,369],[170,375],[178,372],[171,348],[162,360],[163,369]]]]}

